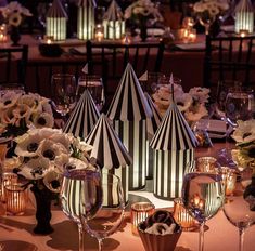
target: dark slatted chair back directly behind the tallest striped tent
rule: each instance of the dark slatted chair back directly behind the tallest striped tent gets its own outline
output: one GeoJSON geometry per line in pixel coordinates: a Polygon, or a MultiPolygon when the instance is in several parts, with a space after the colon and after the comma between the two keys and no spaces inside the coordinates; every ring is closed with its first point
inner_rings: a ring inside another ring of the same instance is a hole
{"type": "Polygon", "coordinates": [[[127,63],[138,78],[148,71],[158,72],[164,54],[164,43],[155,42],[113,42],[87,41],[87,62],[89,74],[99,74],[103,78],[105,97],[111,100],[127,63]]]}

